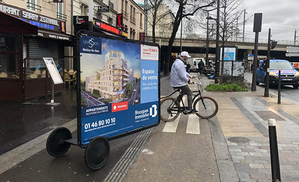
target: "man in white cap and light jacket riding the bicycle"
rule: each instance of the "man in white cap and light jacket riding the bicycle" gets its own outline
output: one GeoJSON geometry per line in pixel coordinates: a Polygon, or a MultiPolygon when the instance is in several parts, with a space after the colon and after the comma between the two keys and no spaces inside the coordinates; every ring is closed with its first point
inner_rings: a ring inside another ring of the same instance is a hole
{"type": "Polygon", "coordinates": [[[192,109],[192,91],[187,84],[193,84],[193,82],[189,79],[193,78],[193,76],[187,73],[185,69],[185,64],[188,58],[191,58],[191,56],[189,56],[186,51],[181,52],[180,56],[177,56],[171,67],[170,85],[175,89],[180,89],[181,94],[187,95],[188,114],[195,114],[198,111],[192,109]]]}

